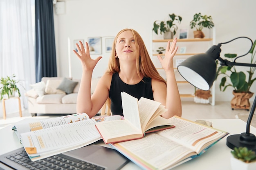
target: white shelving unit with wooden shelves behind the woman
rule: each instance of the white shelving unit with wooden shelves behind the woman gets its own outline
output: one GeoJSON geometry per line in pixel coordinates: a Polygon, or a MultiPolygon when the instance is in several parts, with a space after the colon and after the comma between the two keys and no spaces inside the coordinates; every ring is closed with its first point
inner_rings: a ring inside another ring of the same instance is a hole
{"type": "MultiPolygon", "coordinates": [[[[179,46],[179,48],[182,49],[182,51],[181,50],[177,51],[173,62],[174,62],[174,68],[175,68],[175,77],[176,77],[181,98],[194,98],[195,87],[191,85],[189,82],[187,82],[184,78],[182,78],[182,76],[177,71],[178,61],[182,61],[195,54],[206,52],[212,45],[215,45],[216,43],[215,37],[216,37],[215,29],[211,29],[209,30],[209,34],[202,39],[195,39],[195,38],[177,39],[177,46],[179,46]]],[[[157,55],[159,54],[156,52],[156,50],[158,49],[158,47],[166,48],[166,43],[168,41],[172,42],[173,39],[152,39],[152,49],[153,49],[152,61],[155,64],[155,67],[157,68],[161,76],[163,76],[164,78],[166,78],[165,73],[164,73],[164,70],[162,69],[162,65],[157,59],[157,55]]],[[[164,57],[164,52],[163,54],[160,54],[163,57],[164,57]]],[[[210,104],[215,105],[215,81],[210,90],[211,90],[210,104]]]]}

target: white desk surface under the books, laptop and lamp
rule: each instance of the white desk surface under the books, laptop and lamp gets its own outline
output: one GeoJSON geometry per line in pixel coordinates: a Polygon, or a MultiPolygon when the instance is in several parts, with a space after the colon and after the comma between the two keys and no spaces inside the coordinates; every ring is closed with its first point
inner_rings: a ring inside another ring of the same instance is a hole
{"type": "MultiPolygon", "coordinates": [[[[24,121],[24,120],[23,120],[24,121]]],[[[240,134],[246,131],[246,122],[240,119],[210,119],[213,127],[229,132],[229,135],[240,134]]],[[[256,135],[256,128],[250,128],[250,133],[256,135]]],[[[173,170],[231,170],[231,149],[226,145],[227,137],[213,145],[203,155],[192,159],[173,170]]],[[[18,137],[11,130],[11,126],[0,129],[0,155],[22,147],[18,137]]],[[[129,162],[122,170],[141,170],[134,163],[129,162]]]]}

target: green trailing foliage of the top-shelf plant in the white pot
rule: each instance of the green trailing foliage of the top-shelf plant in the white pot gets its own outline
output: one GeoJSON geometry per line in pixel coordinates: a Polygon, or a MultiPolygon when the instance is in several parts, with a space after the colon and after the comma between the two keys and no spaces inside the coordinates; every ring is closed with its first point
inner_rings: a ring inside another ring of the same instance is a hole
{"type": "Polygon", "coordinates": [[[164,22],[164,21],[155,21],[153,31],[158,34],[158,31],[160,31],[160,34],[165,33],[167,31],[173,32],[173,35],[176,34],[176,30],[178,29],[178,26],[174,23],[175,21],[177,23],[180,23],[182,20],[182,17],[173,14],[169,14],[170,20],[164,22]]]}

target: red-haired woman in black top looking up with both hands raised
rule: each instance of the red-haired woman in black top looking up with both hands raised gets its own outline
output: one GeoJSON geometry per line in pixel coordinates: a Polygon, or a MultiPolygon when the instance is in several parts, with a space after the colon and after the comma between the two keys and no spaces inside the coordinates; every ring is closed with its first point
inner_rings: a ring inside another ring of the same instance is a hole
{"type": "Polygon", "coordinates": [[[165,81],[151,61],[139,33],[133,29],[121,30],[112,45],[108,70],[100,78],[91,96],[92,71],[102,57],[91,59],[88,43],[85,43],[84,48],[80,41],[80,46],[76,44],[78,52],[73,50],[83,68],[76,103],[77,113],[84,112],[93,117],[110,98],[112,115],[123,115],[121,92],[126,92],[138,99],[144,97],[161,102],[168,109],[162,114],[164,118],[181,116],[180,94],[173,70],[173,57],[178,49],[176,42],[177,39],[174,39],[170,46],[168,41],[164,59],[157,56],[166,73],[165,81]]]}

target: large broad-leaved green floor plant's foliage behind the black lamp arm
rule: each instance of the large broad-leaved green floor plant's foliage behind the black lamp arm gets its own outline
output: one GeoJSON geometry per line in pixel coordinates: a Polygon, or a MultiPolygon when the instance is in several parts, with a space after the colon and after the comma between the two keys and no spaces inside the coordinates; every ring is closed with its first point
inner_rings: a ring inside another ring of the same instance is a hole
{"type": "MultiPolygon", "coordinates": [[[[256,58],[255,58],[256,50],[254,51],[255,45],[256,45],[256,40],[254,41],[253,46],[249,52],[250,54],[252,54],[251,55],[251,63],[254,63],[254,64],[256,63],[256,58]]],[[[235,58],[237,56],[237,54],[225,54],[224,56],[233,60],[233,58],[235,58]]],[[[218,64],[218,61],[216,61],[216,63],[218,64]]],[[[234,88],[235,92],[247,92],[248,93],[250,88],[252,87],[252,84],[256,80],[256,77],[253,78],[254,71],[255,71],[255,67],[249,68],[249,71],[247,71],[249,76],[246,81],[245,73],[242,71],[237,72],[235,66],[230,67],[230,66],[221,66],[220,65],[216,72],[215,79],[217,79],[218,76],[220,76],[220,75],[223,76],[221,79],[220,85],[219,85],[220,91],[222,91],[222,92],[224,92],[225,89],[230,86],[230,87],[234,88]],[[231,72],[230,75],[227,74],[228,71],[231,72]],[[227,78],[230,78],[230,81],[232,84],[227,83],[227,78]],[[224,88],[222,89],[222,87],[224,87],[224,88]]]]}

